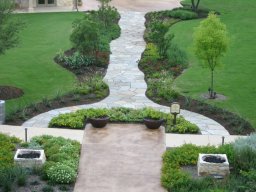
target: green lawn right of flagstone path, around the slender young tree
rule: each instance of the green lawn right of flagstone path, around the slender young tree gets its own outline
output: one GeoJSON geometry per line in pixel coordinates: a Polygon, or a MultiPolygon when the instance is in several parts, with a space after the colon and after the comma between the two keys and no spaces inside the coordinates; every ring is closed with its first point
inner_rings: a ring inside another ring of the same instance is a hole
{"type": "MultiPolygon", "coordinates": [[[[221,21],[227,25],[230,37],[223,65],[215,72],[215,90],[227,96],[227,100],[211,103],[241,115],[256,127],[255,0],[204,0],[201,3],[221,13],[221,21]]],[[[210,85],[209,70],[201,68],[192,51],[193,28],[199,22],[184,21],[171,27],[175,41],[187,50],[191,65],[176,79],[175,87],[193,98],[200,98],[210,85]]]]}

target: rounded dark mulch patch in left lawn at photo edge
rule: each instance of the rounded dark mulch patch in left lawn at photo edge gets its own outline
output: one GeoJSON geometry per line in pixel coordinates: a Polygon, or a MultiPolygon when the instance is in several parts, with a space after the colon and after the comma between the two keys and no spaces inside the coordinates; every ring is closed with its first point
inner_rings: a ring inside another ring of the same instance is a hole
{"type": "Polygon", "coordinates": [[[0,86],[0,100],[9,100],[21,97],[24,94],[22,89],[11,86],[0,86]]]}

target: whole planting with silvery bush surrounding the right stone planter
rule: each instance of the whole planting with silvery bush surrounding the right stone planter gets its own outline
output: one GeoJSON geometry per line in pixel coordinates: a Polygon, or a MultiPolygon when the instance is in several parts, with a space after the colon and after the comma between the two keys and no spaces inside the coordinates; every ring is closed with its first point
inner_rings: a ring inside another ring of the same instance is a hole
{"type": "Polygon", "coordinates": [[[255,191],[256,179],[256,135],[245,139],[238,139],[234,144],[226,144],[219,147],[195,146],[185,144],[178,148],[167,150],[163,155],[163,166],[161,183],[168,191],[175,192],[228,192],[228,191],[255,191]],[[251,149],[251,150],[250,150],[251,149]],[[182,167],[195,166],[199,153],[227,154],[231,174],[223,180],[216,180],[210,177],[196,179],[186,172],[182,167]]]}

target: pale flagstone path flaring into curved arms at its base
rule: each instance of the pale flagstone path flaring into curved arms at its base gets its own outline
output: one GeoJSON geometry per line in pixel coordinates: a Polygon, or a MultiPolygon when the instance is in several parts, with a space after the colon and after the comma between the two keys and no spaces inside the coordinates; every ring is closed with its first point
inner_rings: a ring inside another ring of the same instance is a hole
{"type": "MultiPolygon", "coordinates": [[[[91,107],[143,108],[148,106],[163,112],[169,112],[169,107],[158,105],[145,96],[147,85],[144,81],[144,74],[138,69],[138,60],[145,49],[143,39],[145,13],[134,11],[120,13],[121,36],[111,42],[112,54],[107,74],[104,77],[109,85],[110,95],[98,103],[65,107],[42,113],[26,121],[23,126],[48,127],[49,121],[59,114],[91,107]]],[[[222,125],[203,115],[187,110],[181,110],[181,115],[186,120],[198,125],[202,134],[229,135],[222,125]]]]}

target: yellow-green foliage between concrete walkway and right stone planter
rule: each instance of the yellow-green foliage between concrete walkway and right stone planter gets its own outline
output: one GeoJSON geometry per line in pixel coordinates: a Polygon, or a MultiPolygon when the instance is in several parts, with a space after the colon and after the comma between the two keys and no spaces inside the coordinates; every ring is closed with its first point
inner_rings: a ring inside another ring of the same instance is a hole
{"type": "MultiPolygon", "coordinates": [[[[215,191],[216,184],[213,179],[206,178],[203,180],[193,180],[188,173],[184,172],[180,167],[187,165],[196,165],[199,153],[213,154],[225,153],[224,149],[231,149],[230,144],[221,147],[214,146],[195,146],[185,144],[181,147],[167,150],[163,155],[163,167],[161,175],[161,183],[163,187],[170,191],[215,191]]],[[[229,150],[228,159],[234,156],[234,151],[229,150]]]]}

